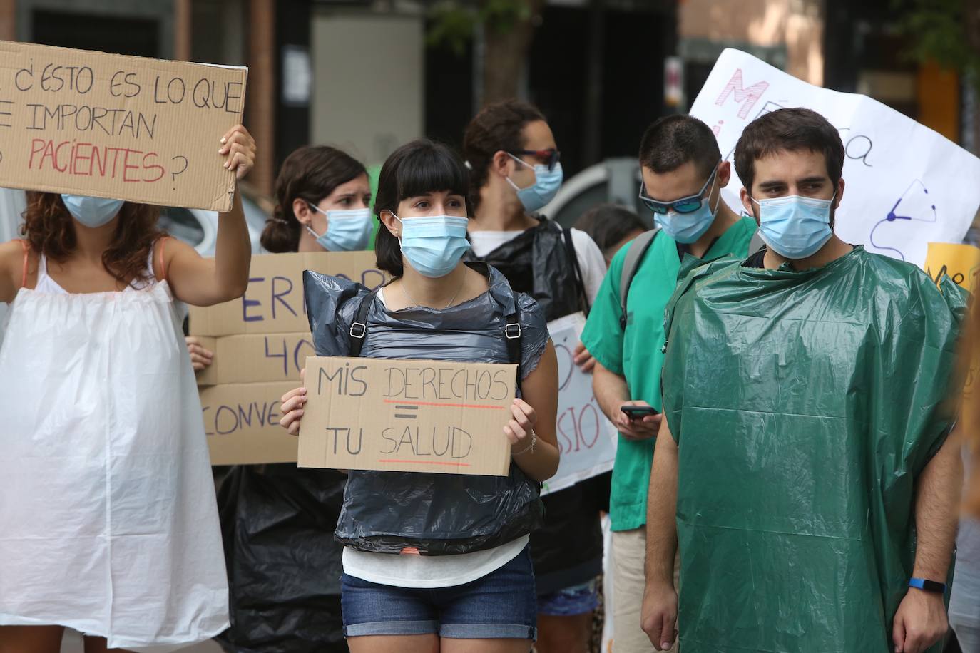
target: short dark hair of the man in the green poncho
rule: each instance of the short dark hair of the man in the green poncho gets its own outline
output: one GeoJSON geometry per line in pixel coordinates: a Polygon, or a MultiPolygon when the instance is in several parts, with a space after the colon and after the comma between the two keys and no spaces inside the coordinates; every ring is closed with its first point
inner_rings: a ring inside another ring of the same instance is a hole
{"type": "Polygon", "coordinates": [[[822,154],[827,176],[837,186],[844,168],[844,143],[827,118],[809,109],[780,109],[746,125],[735,146],[735,171],[752,193],[757,161],[776,152],[797,150],[822,154]]]}

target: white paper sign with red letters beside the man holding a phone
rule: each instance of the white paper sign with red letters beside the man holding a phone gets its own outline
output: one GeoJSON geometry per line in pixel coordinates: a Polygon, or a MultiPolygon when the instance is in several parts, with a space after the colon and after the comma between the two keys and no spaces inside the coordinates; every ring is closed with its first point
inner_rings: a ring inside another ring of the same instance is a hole
{"type": "Polygon", "coordinates": [[[616,432],[592,394],[592,375],[572,360],[585,316],[578,312],[548,323],[558,354],[558,473],[544,484],[547,494],[613,469],[616,432]]]}

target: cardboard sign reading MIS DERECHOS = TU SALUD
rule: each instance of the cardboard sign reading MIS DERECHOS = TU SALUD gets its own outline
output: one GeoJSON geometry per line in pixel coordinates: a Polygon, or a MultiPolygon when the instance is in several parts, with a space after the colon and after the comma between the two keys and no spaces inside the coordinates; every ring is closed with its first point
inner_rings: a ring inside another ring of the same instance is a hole
{"type": "Polygon", "coordinates": [[[299,466],[507,476],[516,365],[310,356],[299,466]]]}

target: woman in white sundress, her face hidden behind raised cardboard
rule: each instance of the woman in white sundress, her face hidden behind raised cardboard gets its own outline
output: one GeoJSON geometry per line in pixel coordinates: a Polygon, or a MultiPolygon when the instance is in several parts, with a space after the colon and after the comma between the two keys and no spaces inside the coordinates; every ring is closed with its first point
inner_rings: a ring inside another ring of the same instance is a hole
{"type": "MultiPolygon", "coordinates": [[[[216,143],[241,178],[244,127],[216,143]]],[[[213,259],[156,228],[158,208],[28,194],[0,245],[0,653],[178,648],[227,628],[208,447],[179,303],[239,297],[241,202],[213,259]],[[163,647],[163,648],[161,648],[163,647]]]]}

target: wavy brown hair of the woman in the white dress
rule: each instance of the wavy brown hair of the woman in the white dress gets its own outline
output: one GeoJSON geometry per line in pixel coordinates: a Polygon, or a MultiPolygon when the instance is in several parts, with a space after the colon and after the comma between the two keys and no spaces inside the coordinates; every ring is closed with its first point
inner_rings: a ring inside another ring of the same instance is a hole
{"type": "MultiPolygon", "coordinates": [[[[160,207],[123,203],[112,242],[102,253],[102,266],[123,284],[149,281],[152,269],[146,261],[164,232],[157,228],[160,207]]],[[[21,233],[30,249],[52,260],[64,262],[74,252],[78,239],[72,213],[57,193],[27,193],[27,210],[21,233]]]]}

